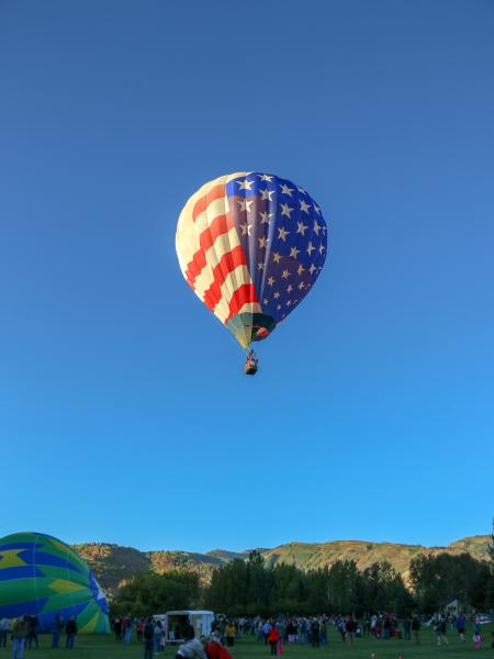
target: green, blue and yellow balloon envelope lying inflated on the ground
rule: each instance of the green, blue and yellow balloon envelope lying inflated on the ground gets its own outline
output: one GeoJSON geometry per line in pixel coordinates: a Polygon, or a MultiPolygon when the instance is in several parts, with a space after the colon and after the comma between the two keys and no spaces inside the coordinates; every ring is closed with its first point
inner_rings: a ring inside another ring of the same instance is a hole
{"type": "Polygon", "coordinates": [[[94,574],[65,543],[42,533],[0,539],[0,618],[36,615],[40,632],[55,616],[77,617],[80,633],[105,633],[108,602],[94,574]]]}

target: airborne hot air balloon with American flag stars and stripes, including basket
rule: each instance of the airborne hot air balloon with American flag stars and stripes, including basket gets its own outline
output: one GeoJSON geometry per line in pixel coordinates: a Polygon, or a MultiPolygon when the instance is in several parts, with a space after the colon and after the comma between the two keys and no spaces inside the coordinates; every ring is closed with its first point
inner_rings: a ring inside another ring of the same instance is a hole
{"type": "Polygon", "coordinates": [[[307,192],[272,174],[243,171],[202,186],[180,213],[180,269],[247,351],[305,298],[326,259],[327,227],[307,192]]]}

